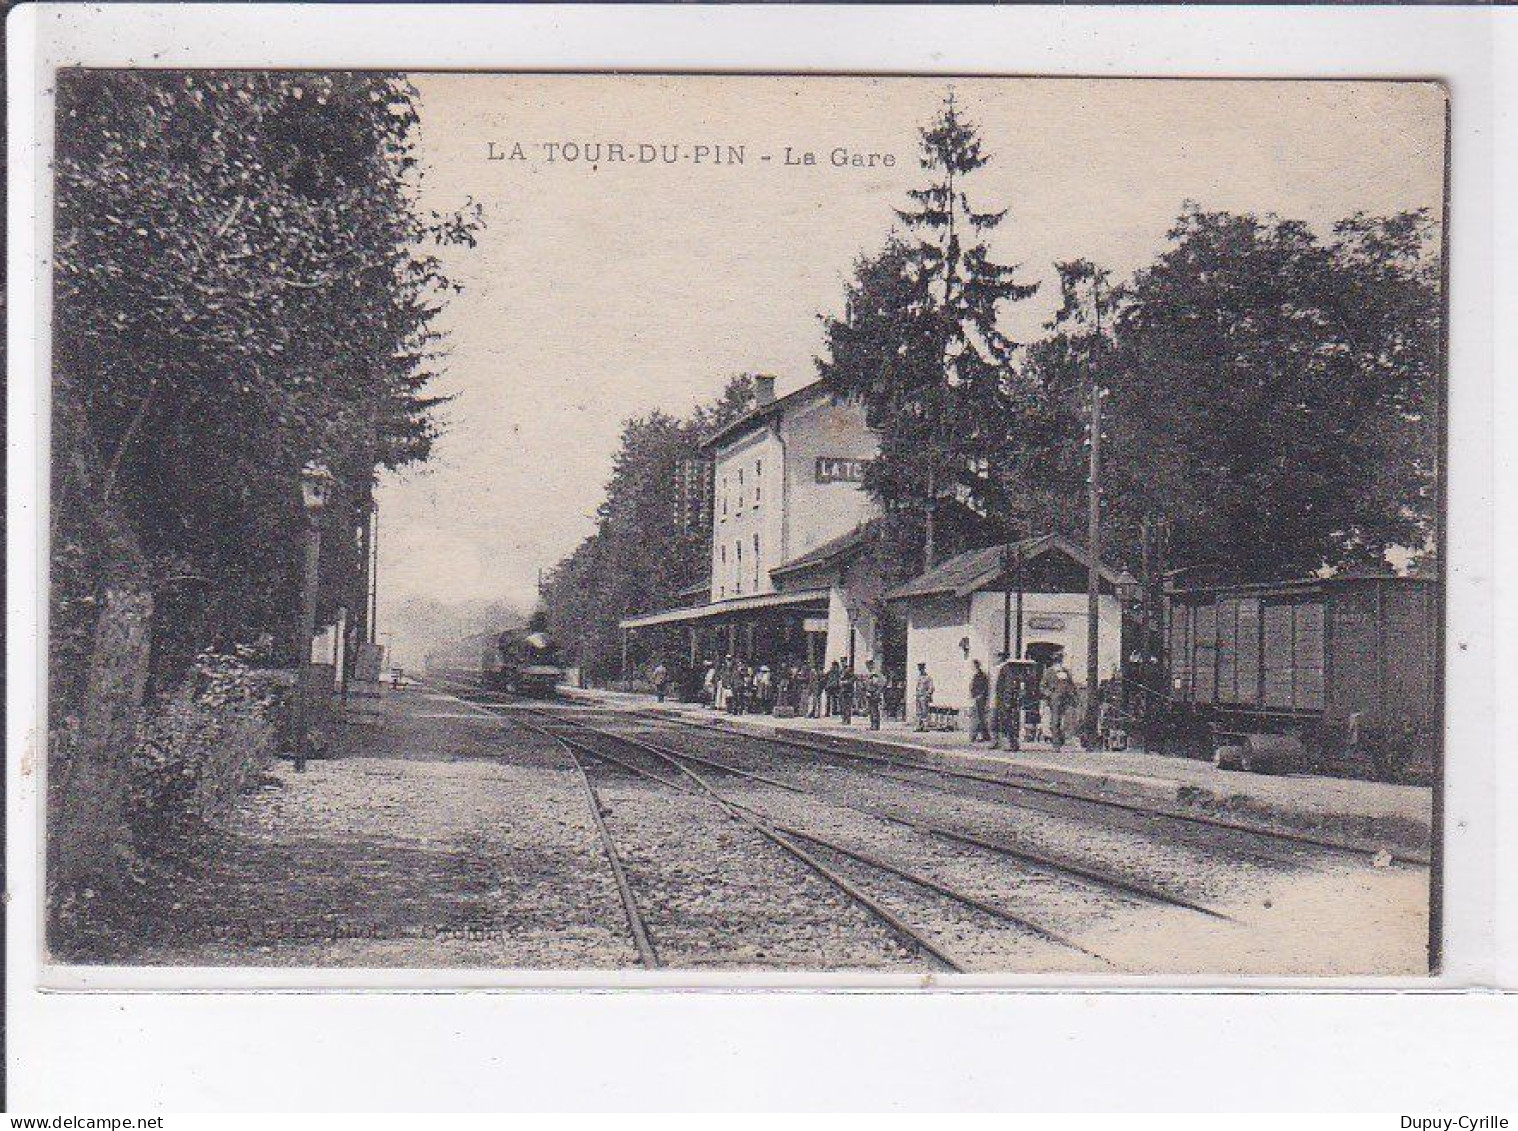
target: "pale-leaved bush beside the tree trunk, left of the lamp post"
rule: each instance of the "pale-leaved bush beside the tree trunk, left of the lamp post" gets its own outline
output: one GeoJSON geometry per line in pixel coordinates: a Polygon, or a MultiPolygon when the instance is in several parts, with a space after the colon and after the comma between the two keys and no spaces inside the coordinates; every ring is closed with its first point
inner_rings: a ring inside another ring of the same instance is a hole
{"type": "Polygon", "coordinates": [[[200,653],[147,718],[132,758],[131,812],[152,838],[225,817],[282,745],[294,679],[200,653]]]}

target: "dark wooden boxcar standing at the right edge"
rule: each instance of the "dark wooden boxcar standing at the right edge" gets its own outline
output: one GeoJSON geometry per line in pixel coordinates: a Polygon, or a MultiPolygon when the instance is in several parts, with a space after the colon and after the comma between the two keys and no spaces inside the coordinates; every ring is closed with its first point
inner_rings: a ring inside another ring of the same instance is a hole
{"type": "Polygon", "coordinates": [[[1219,741],[1296,735],[1322,768],[1431,771],[1441,742],[1438,581],[1315,577],[1166,597],[1172,698],[1219,741]]]}

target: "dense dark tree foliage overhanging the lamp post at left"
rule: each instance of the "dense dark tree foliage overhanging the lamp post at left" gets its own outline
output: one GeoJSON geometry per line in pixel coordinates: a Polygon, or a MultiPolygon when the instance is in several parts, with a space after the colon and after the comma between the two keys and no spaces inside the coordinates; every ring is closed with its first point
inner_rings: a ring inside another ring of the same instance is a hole
{"type": "MultiPolygon", "coordinates": [[[[323,612],[354,604],[376,468],[427,458],[437,258],[414,93],[389,74],[76,71],[58,96],[55,584],[88,612],[115,524],[213,639],[294,648],[299,469],[323,460],[323,612]]],[[[114,554],[114,560],[123,560],[114,554]]],[[[73,603],[73,606],[70,604],[73,603]]]]}

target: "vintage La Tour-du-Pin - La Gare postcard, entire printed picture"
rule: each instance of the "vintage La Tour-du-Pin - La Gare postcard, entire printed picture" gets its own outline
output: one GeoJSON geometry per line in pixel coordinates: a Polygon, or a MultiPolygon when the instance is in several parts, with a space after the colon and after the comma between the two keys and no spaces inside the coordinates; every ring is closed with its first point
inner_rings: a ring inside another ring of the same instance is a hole
{"type": "Polygon", "coordinates": [[[59,73],[47,961],[1438,972],[1447,114],[59,73]]]}

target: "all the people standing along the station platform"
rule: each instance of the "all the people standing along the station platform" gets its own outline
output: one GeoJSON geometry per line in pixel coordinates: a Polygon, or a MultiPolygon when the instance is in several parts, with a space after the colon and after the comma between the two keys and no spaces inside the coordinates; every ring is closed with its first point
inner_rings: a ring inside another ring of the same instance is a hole
{"type": "MultiPolygon", "coordinates": [[[[1063,653],[1041,674],[1035,671],[1028,662],[1016,662],[1000,653],[993,679],[981,660],[973,660],[968,689],[972,744],[990,742],[993,750],[1003,745],[1017,750],[1041,732],[1057,747],[1064,745],[1081,710],[1081,689],[1063,653]]],[[[669,669],[659,662],[651,674],[662,703],[672,689],[669,669]]],[[[935,729],[937,688],[926,663],[917,665],[912,692],[917,730],[935,729]]],[[[868,718],[871,730],[880,729],[882,717],[905,717],[905,688],[890,680],[876,660],[867,660],[865,669],[856,673],[842,660],[833,660],[826,668],[809,663],[777,663],[771,668],[726,656],[706,663],[697,694],[707,707],[730,715],[839,718],[846,726],[861,715],[868,718]]]]}

